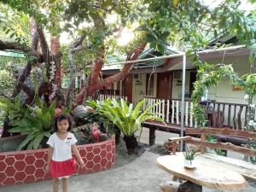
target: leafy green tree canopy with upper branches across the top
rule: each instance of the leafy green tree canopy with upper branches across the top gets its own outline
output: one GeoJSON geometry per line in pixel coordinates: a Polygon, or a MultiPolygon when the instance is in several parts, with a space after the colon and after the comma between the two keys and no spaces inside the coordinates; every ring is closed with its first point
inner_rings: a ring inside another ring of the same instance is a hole
{"type": "MultiPolygon", "coordinates": [[[[131,67],[124,66],[123,73],[113,78],[98,80],[108,55],[125,54],[126,60],[136,60],[131,55],[138,55],[146,44],[160,52],[171,45],[191,53],[205,49],[212,38],[224,34],[236,36],[247,46],[255,44],[256,12],[239,9],[242,2],[223,0],[212,6],[199,0],[4,0],[0,3],[0,28],[9,35],[8,40],[20,45],[1,44],[3,39],[0,39],[0,49],[20,49],[30,56],[43,58],[48,79],[52,79],[49,74],[53,61],[59,73],[55,72],[55,77],[59,79],[61,67],[70,68],[71,74],[77,68],[91,67],[89,88],[88,84],[84,85],[91,94],[104,84],[123,79],[131,67]],[[120,46],[118,38],[127,29],[135,38],[130,44],[120,46]],[[61,49],[57,49],[60,45],[56,44],[61,42],[56,42],[63,32],[73,39],[73,44],[62,44],[61,49]],[[39,52],[38,41],[42,49],[39,52]],[[90,82],[94,82],[96,88],[90,89],[90,82]]],[[[254,0],[248,2],[255,3],[254,0]]],[[[200,67],[201,62],[195,65],[200,67]]],[[[70,88],[73,81],[70,80],[70,88]]]]}

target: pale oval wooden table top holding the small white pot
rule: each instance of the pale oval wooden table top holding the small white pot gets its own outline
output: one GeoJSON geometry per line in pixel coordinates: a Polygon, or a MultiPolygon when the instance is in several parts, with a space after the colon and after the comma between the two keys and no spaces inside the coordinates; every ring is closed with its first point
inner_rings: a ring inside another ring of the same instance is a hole
{"type": "Polygon", "coordinates": [[[166,172],[207,188],[233,190],[247,187],[247,181],[238,172],[225,170],[222,166],[211,166],[207,162],[197,161],[196,157],[195,169],[185,168],[183,153],[161,156],[156,164],[166,172]]]}

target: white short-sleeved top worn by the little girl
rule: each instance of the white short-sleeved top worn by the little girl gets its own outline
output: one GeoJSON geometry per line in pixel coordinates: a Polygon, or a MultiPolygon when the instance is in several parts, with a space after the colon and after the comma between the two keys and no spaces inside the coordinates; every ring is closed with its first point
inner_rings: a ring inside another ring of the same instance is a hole
{"type": "Polygon", "coordinates": [[[63,140],[56,133],[52,134],[47,142],[50,147],[54,148],[51,159],[55,161],[70,160],[72,158],[71,146],[77,141],[71,132],[68,132],[67,137],[63,140]]]}

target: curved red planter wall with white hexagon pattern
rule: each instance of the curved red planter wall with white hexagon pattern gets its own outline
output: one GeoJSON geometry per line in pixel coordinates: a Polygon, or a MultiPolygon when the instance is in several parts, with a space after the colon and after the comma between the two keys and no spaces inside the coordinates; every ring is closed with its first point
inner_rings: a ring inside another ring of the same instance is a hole
{"type": "MultiPolygon", "coordinates": [[[[115,162],[114,138],[102,143],[79,145],[78,148],[85,167],[78,166],[77,174],[99,172],[113,167],[115,162]]],[[[47,148],[0,153],[0,186],[49,179],[49,173],[44,171],[46,162],[47,148]]]]}

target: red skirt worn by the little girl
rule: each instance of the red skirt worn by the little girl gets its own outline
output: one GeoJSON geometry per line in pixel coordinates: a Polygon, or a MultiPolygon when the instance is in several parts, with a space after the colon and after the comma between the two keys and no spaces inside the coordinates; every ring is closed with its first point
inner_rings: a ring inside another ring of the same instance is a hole
{"type": "Polygon", "coordinates": [[[71,158],[64,161],[50,161],[49,172],[52,177],[70,176],[75,173],[76,160],[71,158]]]}

